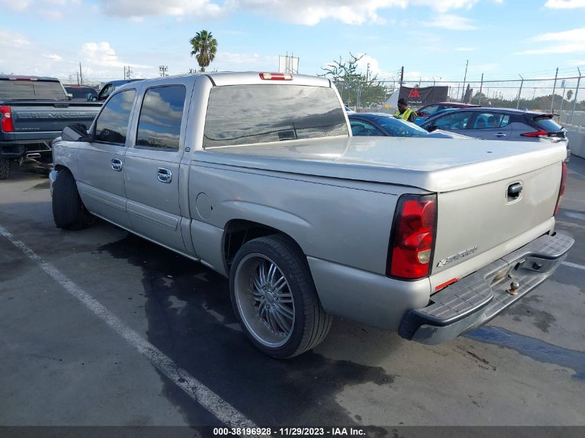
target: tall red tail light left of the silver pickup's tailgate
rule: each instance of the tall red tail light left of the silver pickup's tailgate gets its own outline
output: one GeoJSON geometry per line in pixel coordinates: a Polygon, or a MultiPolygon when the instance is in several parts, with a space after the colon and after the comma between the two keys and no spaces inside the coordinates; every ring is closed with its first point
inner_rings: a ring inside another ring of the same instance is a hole
{"type": "Polygon", "coordinates": [[[417,280],[429,275],[436,228],[435,194],[405,194],[400,197],[390,235],[386,274],[406,280],[417,280]]]}

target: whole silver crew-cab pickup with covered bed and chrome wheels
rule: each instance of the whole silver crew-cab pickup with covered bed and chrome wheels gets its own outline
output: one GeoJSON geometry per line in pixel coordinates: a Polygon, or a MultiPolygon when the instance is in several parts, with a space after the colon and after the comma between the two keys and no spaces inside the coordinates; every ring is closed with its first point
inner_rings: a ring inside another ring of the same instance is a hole
{"type": "Polygon", "coordinates": [[[563,145],[352,138],[329,80],[210,73],[126,84],[64,129],[57,227],[100,217],[229,278],[242,329],[289,358],[332,317],[441,343],[545,281],[563,145]]]}

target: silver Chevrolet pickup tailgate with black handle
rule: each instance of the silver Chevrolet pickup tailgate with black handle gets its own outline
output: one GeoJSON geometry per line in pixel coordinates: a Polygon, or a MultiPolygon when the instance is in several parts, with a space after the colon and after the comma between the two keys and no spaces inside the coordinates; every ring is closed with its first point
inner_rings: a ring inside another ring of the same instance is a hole
{"type": "Polygon", "coordinates": [[[554,226],[561,161],[438,194],[433,289],[507,255],[554,226]]]}

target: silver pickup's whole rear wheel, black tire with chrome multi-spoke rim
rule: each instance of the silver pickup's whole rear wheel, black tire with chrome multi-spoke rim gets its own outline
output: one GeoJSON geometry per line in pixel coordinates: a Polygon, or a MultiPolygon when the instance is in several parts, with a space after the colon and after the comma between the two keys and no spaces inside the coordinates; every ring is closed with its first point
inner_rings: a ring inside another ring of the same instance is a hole
{"type": "Polygon", "coordinates": [[[274,358],[291,358],[316,347],[331,327],[307,258],[284,235],[253,239],[237,251],[230,295],[246,336],[274,358]]]}

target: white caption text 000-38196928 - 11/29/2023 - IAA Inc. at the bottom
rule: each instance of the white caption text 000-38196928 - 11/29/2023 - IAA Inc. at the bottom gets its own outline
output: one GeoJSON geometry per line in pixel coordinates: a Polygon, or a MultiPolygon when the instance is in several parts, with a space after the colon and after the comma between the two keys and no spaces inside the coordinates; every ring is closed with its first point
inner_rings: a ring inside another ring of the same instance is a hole
{"type": "Polygon", "coordinates": [[[288,428],[213,428],[213,435],[220,436],[240,436],[240,437],[307,437],[307,436],[333,436],[333,437],[360,437],[366,435],[363,428],[355,427],[327,427],[327,428],[305,428],[305,427],[288,427],[288,428]]]}

